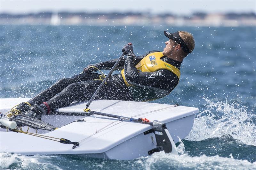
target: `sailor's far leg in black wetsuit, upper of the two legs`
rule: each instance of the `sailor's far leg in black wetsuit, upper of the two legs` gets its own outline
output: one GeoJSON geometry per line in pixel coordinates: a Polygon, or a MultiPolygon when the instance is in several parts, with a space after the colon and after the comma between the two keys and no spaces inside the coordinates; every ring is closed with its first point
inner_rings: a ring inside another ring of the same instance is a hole
{"type": "Polygon", "coordinates": [[[28,103],[31,105],[34,104],[41,104],[45,101],[48,101],[53,96],[61,92],[64,88],[66,88],[68,85],[76,82],[86,81],[86,80],[93,80],[99,77],[99,74],[97,73],[80,73],[75,76],[72,76],[71,78],[62,78],[53,85],[51,85],[49,88],[45,89],[44,91],[37,94],[35,97],[30,99],[28,103]]]}

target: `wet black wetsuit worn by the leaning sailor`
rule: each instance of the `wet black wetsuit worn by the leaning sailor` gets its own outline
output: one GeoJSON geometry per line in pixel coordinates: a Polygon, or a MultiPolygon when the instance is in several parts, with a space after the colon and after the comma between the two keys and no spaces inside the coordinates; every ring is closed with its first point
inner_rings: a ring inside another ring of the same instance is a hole
{"type": "MultiPolygon", "coordinates": [[[[150,51],[135,58],[127,57],[116,68],[116,70],[124,68],[126,79],[138,86],[127,87],[122,75],[114,74],[108,79],[107,84],[102,86],[95,99],[145,101],[161,98],[170,93],[179,82],[178,77],[171,71],[161,69],[155,72],[141,72],[135,67],[142,58],[153,52],[158,51],[150,51]],[[147,87],[163,90],[164,94],[163,96],[156,95],[152,89],[147,87]]],[[[163,57],[161,60],[180,69],[181,62],[167,57],[163,57]]],[[[116,61],[117,59],[101,62],[95,66],[100,70],[110,70],[116,61]]],[[[102,82],[101,80],[94,80],[98,79],[99,76],[100,74],[92,72],[80,73],[71,78],[62,78],[28,102],[31,105],[46,102],[52,112],[57,108],[68,106],[73,101],[89,100],[102,82]]]]}

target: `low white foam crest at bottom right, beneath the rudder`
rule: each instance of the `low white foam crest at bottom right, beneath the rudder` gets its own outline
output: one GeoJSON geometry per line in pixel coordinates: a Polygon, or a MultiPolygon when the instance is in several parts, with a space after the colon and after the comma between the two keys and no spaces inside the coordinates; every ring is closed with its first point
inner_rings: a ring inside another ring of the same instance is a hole
{"type": "Polygon", "coordinates": [[[187,154],[173,155],[163,151],[153,153],[146,158],[137,160],[143,169],[254,169],[256,162],[248,160],[237,160],[234,158],[223,158],[220,156],[195,156],[187,154]]]}

